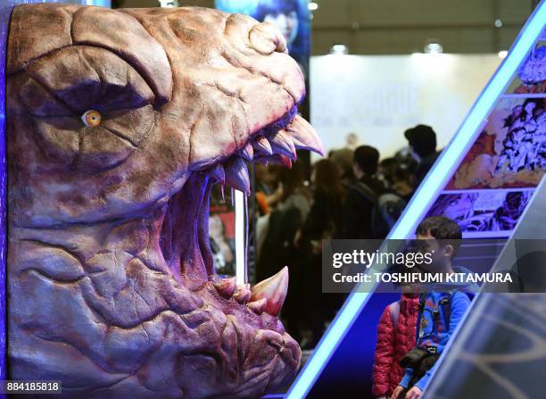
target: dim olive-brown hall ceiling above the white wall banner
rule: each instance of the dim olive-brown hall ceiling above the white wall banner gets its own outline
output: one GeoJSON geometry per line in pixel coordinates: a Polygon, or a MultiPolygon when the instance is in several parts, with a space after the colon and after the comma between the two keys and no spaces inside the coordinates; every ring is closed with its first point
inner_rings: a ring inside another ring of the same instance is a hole
{"type": "MultiPolygon", "coordinates": [[[[258,0],[257,0],[258,1],[258,0]]],[[[427,43],[444,53],[498,53],[509,48],[538,0],[316,0],[312,55],[335,44],[351,54],[411,54],[427,43]]],[[[159,0],[113,0],[114,7],[153,7],[159,0]]],[[[214,0],[178,0],[213,7],[214,0]]]]}

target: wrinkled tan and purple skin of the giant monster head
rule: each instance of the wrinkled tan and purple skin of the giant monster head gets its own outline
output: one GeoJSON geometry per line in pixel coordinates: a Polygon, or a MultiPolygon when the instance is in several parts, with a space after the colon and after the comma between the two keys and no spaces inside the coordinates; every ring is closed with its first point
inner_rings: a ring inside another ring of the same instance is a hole
{"type": "Polygon", "coordinates": [[[155,399],[256,397],[292,378],[287,275],[264,289],[277,299],[247,303],[215,276],[207,231],[214,180],[246,191],[237,154],[266,159],[263,136],[273,161],[313,149],[280,33],[209,9],[19,5],[7,75],[10,378],[155,399]],[[98,127],[80,119],[90,109],[98,127]]]}

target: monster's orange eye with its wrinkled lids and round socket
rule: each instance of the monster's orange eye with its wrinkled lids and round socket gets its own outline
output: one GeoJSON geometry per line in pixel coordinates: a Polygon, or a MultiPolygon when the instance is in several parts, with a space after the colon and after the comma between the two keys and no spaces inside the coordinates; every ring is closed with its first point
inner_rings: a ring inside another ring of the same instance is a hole
{"type": "Polygon", "coordinates": [[[99,47],[64,47],[29,63],[10,85],[35,123],[43,154],[70,170],[120,165],[155,121],[145,79],[99,47]]]}

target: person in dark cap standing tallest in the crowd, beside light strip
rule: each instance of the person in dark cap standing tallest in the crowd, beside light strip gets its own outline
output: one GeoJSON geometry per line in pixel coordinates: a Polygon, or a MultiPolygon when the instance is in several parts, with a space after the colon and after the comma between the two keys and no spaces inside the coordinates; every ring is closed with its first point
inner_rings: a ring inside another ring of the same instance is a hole
{"type": "Polygon", "coordinates": [[[430,126],[417,125],[406,130],[404,136],[409,142],[413,156],[418,161],[415,170],[415,183],[418,186],[440,154],[436,151],[436,133],[430,126]]]}

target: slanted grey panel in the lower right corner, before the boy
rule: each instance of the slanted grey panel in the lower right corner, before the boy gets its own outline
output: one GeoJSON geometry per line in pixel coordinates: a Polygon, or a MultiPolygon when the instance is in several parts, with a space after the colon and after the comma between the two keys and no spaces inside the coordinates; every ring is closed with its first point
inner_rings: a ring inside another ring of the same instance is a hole
{"type": "Polygon", "coordinates": [[[546,337],[546,326],[542,323],[546,276],[540,266],[544,264],[542,240],[546,238],[545,183],[546,179],[542,179],[536,188],[492,269],[516,269],[525,282],[522,286],[528,288],[526,294],[479,295],[474,300],[426,395],[492,398],[514,393],[530,398],[542,395],[542,368],[546,360],[542,350],[546,337]],[[525,271],[519,270],[518,261],[530,254],[538,257],[531,262],[532,272],[525,276],[525,271]],[[526,285],[528,282],[532,283],[531,287],[526,285]]]}

